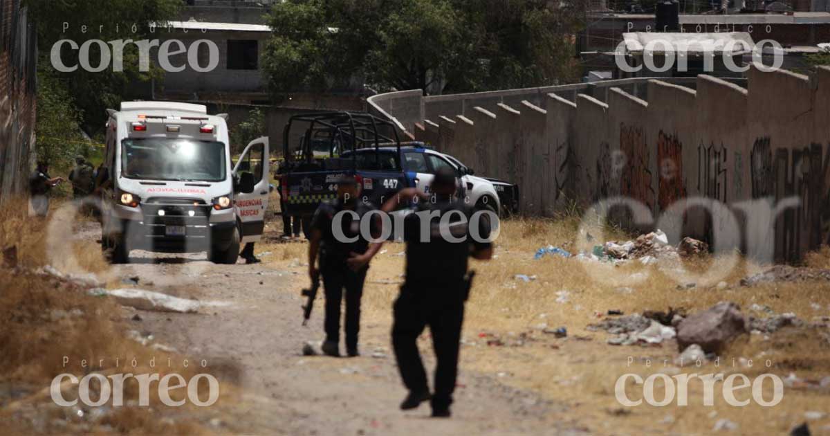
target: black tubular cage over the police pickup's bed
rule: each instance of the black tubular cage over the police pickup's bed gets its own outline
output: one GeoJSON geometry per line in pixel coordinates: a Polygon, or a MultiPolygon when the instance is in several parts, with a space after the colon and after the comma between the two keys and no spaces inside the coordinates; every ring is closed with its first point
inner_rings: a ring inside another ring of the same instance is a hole
{"type": "Polygon", "coordinates": [[[348,150],[353,152],[351,154],[353,169],[355,165],[354,150],[374,146],[376,159],[379,159],[378,148],[381,145],[396,145],[398,151],[400,151],[401,141],[398,138],[398,130],[392,122],[364,112],[339,110],[291,116],[285,130],[283,130],[282,138],[283,156],[285,156],[286,161],[293,159],[289,139],[291,138],[291,125],[295,122],[309,123],[301,144],[301,156],[307,163],[311,163],[314,159],[312,140],[315,139],[316,134],[323,131],[329,132],[329,137],[326,139],[330,141],[330,156],[334,153],[335,140],[340,141],[341,153],[348,150]],[[389,135],[388,132],[381,133],[378,128],[391,130],[392,134],[389,135]]]}

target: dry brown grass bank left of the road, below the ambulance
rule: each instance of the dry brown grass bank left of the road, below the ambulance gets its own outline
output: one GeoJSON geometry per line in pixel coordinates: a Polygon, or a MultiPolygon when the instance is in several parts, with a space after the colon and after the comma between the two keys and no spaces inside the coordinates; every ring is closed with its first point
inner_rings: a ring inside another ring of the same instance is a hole
{"type": "MultiPolygon", "coordinates": [[[[76,225],[68,215],[52,213],[49,219],[28,218],[24,202],[0,209],[0,249],[17,247],[17,267],[0,261],[0,421],[12,423],[5,434],[130,433],[130,434],[210,434],[203,422],[206,410],[188,402],[180,408],[164,406],[158,389],[150,389],[150,404],[131,404],[138,399],[135,379],[125,382],[124,407],[105,411],[100,419],[90,413],[95,408],[82,406],[85,418],[76,408],[53,404],[48,392],[51,380],[63,373],[81,378],[90,372],[155,374],[176,372],[188,380],[198,372],[195,365],[183,366],[185,356],[154,350],[131,339],[120,306],[107,298],[91,296],[83,287],[35,272],[47,263],[62,272],[105,272],[108,268],[95,241],[64,238],[50,244],[52,225],[76,225]],[[70,256],[69,254],[73,254],[70,256]],[[68,363],[64,359],[68,358],[68,363]],[[135,365],[132,361],[135,360],[135,365]]],[[[53,208],[53,210],[56,208],[53,208]]],[[[66,229],[66,227],[62,227],[66,229]]],[[[209,372],[209,370],[208,370],[209,372]]],[[[222,383],[222,395],[210,413],[221,413],[223,403],[231,401],[235,388],[222,383]]],[[[92,385],[96,392],[97,386],[92,385]]],[[[200,392],[205,395],[207,386],[200,392]]],[[[173,399],[186,397],[186,390],[173,391],[173,399]]],[[[77,387],[65,392],[66,399],[77,398],[77,387]]],[[[80,404],[80,403],[79,403],[80,404]]]]}

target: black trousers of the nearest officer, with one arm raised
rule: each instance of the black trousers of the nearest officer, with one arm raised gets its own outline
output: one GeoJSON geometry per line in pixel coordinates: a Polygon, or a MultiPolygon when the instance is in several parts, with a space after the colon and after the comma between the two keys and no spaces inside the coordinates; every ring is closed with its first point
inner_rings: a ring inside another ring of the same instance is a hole
{"type": "Polygon", "coordinates": [[[424,327],[432,333],[437,357],[432,409],[447,409],[458,374],[458,346],[464,321],[461,286],[431,287],[404,284],[394,304],[392,345],[403,385],[414,392],[427,391],[427,373],[417,350],[417,337],[424,327]]]}

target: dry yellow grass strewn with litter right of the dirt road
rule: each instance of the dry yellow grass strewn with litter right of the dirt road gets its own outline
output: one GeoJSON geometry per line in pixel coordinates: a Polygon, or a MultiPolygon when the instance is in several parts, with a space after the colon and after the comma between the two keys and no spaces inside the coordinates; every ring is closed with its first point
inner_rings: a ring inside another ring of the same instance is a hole
{"type": "MultiPolygon", "coordinates": [[[[673,340],[657,347],[606,344],[607,334],[588,331],[586,327],[599,321],[609,309],[625,313],[646,310],[667,310],[670,306],[694,312],[706,309],[718,301],[735,301],[749,309],[753,303],[771,307],[777,313],[793,312],[810,320],[814,316],[830,315],[830,285],[826,282],[778,283],[756,287],[740,287],[740,278],[755,272],[759,266],[738,259],[723,277],[681,276],[675,271],[640,262],[611,267],[597,262],[582,262],[574,258],[548,256],[535,260],[539,247],[548,244],[574,250],[577,234],[576,218],[518,219],[504,223],[497,240],[496,257],[488,263],[471,261],[478,272],[467,304],[465,335],[461,366],[491,375],[502,375],[505,383],[539,392],[544,398],[569,408],[566,420],[573,425],[586,426],[598,434],[643,434],[668,432],[708,434],[717,419],[730,419],[740,424],[741,434],[768,434],[789,432],[803,422],[807,410],[830,410],[830,397],[806,389],[786,389],[784,401],[773,408],[751,403],[747,407],[732,407],[715,392],[715,405],[702,404],[700,383],[691,382],[689,405],[666,407],[642,405],[621,414],[622,406],[614,397],[614,384],[619,375],[636,373],[643,378],[657,371],[676,371],[671,365],[677,354],[673,340]],[[516,274],[536,276],[531,282],[522,282],[516,274]],[[631,282],[632,277],[644,277],[631,282]],[[715,286],[723,281],[726,287],[715,286]],[[709,282],[692,289],[678,290],[678,284],[709,282]],[[630,289],[625,289],[625,288],[630,289]],[[568,301],[559,302],[557,291],[567,291],[568,301]],[[816,305],[822,307],[816,310],[816,305]],[[540,324],[555,328],[566,326],[569,337],[554,339],[540,332],[540,324]],[[506,341],[525,337],[522,346],[486,346],[480,333],[494,334],[506,341]],[[578,339],[579,338],[579,339],[578,339]],[[628,359],[634,360],[628,365],[628,359]],[[646,365],[649,360],[650,366],[646,365]],[[666,363],[664,363],[666,362],[666,363]],[[664,368],[664,365],[669,367],[664,368]],[[670,415],[671,419],[666,419],[670,415]],[[666,419],[665,422],[662,422],[666,419]],[[671,421],[671,422],[670,422],[671,421]]],[[[592,234],[600,234],[594,228],[592,234]]],[[[604,228],[605,240],[627,239],[617,229],[604,228]]],[[[600,243],[598,241],[597,243],[600,243]]],[[[270,262],[275,267],[295,268],[305,278],[305,244],[276,244],[263,247],[274,253],[270,262]],[[298,264],[295,259],[299,259],[298,264]]],[[[391,306],[397,296],[397,282],[403,281],[403,244],[388,243],[385,252],[378,254],[369,269],[364,291],[364,322],[380,325],[391,323],[391,306]]],[[[686,271],[699,273],[709,267],[725,264],[725,257],[702,257],[684,262],[686,271]]],[[[808,265],[830,265],[830,250],[825,248],[808,256],[808,265]]],[[[386,331],[386,329],[381,329],[386,331]]],[[[685,368],[686,373],[709,374],[741,372],[754,378],[771,372],[782,378],[794,373],[803,379],[820,380],[830,375],[830,343],[819,331],[779,331],[764,336],[745,336],[731,345],[714,363],[702,368],[685,368]],[[752,368],[742,367],[740,358],[756,362],[752,368]],[[767,369],[757,362],[769,359],[767,369]],[[733,365],[732,362],[735,362],[733,365]]],[[[373,338],[386,342],[387,338],[373,338]]],[[[427,342],[423,350],[431,353],[427,342]]],[[[657,384],[657,399],[662,399],[657,384]]],[[[642,387],[627,385],[632,399],[642,398],[642,387]]],[[[769,388],[769,383],[765,385],[769,388]]],[[[769,391],[769,389],[767,389],[769,391]]],[[[766,398],[771,394],[766,392],[766,398]]],[[[747,395],[738,395],[745,399],[747,395]]],[[[552,417],[562,419],[562,415],[552,417]]],[[[830,424],[828,418],[810,423],[811,429],[830,424]]]]}

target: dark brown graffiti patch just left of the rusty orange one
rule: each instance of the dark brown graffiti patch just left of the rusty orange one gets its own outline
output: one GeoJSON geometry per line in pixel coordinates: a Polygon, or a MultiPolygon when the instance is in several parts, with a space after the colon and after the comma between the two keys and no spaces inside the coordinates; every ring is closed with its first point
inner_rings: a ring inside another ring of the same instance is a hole
{"type": "MultiPolygon", "coordinates": [[[[646,134],[642,127],[620,124],[620,151],[622,169],[620,194],[644,203],[649,209],[654,206],[654,189],[652,188],[652,168],[650,154],[646,143],[646,134]]],[[[615,168],[618,168],[615,162],[615,168]]]]}

